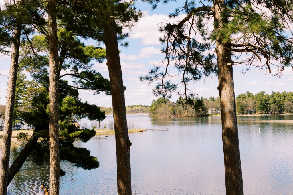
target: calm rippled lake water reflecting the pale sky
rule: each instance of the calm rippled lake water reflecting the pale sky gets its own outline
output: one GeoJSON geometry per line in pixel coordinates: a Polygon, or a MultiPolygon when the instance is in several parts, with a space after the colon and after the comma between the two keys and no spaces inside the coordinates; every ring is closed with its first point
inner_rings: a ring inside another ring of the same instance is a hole
{"type": "MultiPolygon", "coordinates": [[[[225,194],[220,117],[129,114],[127,120],[144,129],[169,128],[129,134],[137,194],[225,194]]],[[[238,117],[245,194],[293,193],[293,123],[286,120],[292,122],[293,116],[238,117]]],[[[61,162],[66,175],[60,177],[60,194],[117,194],[115,137],[75,145],[89,149],[100,167],[83,170],[61,162]]],[[[8,186],[9,194],[34,194],[30,186],[39,188],[41,183],[49,184],[48,165],[26,162],[8,186]]]]}

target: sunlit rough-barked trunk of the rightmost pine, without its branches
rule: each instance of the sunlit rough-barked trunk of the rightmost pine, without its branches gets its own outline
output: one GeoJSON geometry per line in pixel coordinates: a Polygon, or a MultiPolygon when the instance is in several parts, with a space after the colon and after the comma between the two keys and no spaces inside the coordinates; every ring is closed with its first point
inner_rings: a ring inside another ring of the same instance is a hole
{"type": "MultiPolygon", "coordinates": [[[[220,32],[228,23],[224,0],[214,0],[214,9],[215,30],[220,32]]],[[[217,37],[216,45],[226,194],[243,194],[231,52],[224,48],[220,37],[217,37]]]]}

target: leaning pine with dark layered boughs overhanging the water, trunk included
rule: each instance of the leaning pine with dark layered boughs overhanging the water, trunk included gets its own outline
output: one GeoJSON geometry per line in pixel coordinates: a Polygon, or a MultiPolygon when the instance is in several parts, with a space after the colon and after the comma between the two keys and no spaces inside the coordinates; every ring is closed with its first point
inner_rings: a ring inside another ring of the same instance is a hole
{"type": "MultiPolygon", "coordinates": [[[[39,8],[44,6],[39,6],[39,8]]],[[[57,7],[60,11],[60,6],[57,7]]],[[[67,8],[66,8],[67,9],[67,8]]],[[[36,20],[36,21],[39,21],[36,20]]],[[[64,28],[64,23],[59,23],[58,27],[58,82],[59,82],[59,99],[64,99],[65,97],[62,94],[67,94],[69,96],[74,96],[77,98],[77,90],[76,89],[85,89],[85,90],[92,90],[94,94],[99,94],[100,92],[105,92],[106,94],[111,94],[110,92],[110,82],[108,79],[103,78],[103,76],[96,72],[95,70],[91,70],[92,63],[91,60],[95,59],[98,62],[102,62],[103,59],[106,57],[105,49],[95,46],[85,46],[84,43],[80,41],[80,39],[76,35],[76,31],[72,32],[66,30],[64,28]],[[60,74],[61,70],[68,70],[65,74],[60,74]],[[74,84],[69,85],[66,80],[62,80],[66,77],[71,76],[74,79],[74,84]],[[60,95],[61,94],[61,95],[60,95]],[[61,96],[61,97],[60,97],[61,96]]],[[[25,98],[23,100],[23,106],[25,107],[25,112],[21,113],[22,119],[29,125],[33,125],[35,127],[33,136],[29,139],[29,141],[25,144],[21,152],[19,153],[16,160],[13,162],[11,167],[9,168],[8,173],[8,183],[12,180],[14,175],[17,171],[21,168],[21,165],[25,162],[28,156],[31,156],[31,152],[40,153],[42,151],[39,150],[40,146],[37,147],[38,138],[42,137],[42,139],[48,140],[46,137],[47,128],[45,128],[45,132],[40,134],[40,130],[43,130],[44,127],[48,126],[49,123],[46,121],[49,116],[46,114],[47,112],[47,103],[44,102],[47,99],[48,94],[44,94],[44,90],[48,90],[49,88],[49,53],[48,49],[48,41],[47,41],[47,31],[46,23],[40,23],[36,26],[36,28],[40,31],[39,34],[27,37],[28,40],[23,42],[22,44],[22,51],[21,51],[21,59],[19,64],[21,67],[24,67],[28,72],[31,73],[31,76],[35,79],[29,82],[29,87],[27,89],[27,93],[25,94],[25,98]],[[42,94],[42,96],[40,96],[42,94]],[[43,118],[44,120],[40,120],[43,118]]],[[[82,28],[82,27],[81,27],[82,28]]],[[[80,30],[80,28],[75,28],[75,30],[80,30]]],[[[32,33],[32,32],[31,32],[32,33]]],[[[89,34],[88,31],[80,31],[78,32],[79,36],[86,36],[89,34]],[[82,34],[84,33],[84,34],[82,34]]],[[[123,87],[125,89],[125,87],[123,87]]],[[[70,99],[67,99],[70,100],[70,99]]],[[[59,101],[60,103],[61,101],[59,101]]],[[[105,118],[104,113],[100,112],[99,107],[95,105],[89,105],[87,103],[79,103],[79,101],[67,101],[74,102],[77,105],[80,105],[77,110],[74,110],[73,113],[66,107],[60,107],[59,109],[59,120],[70,122],[72,120],[76,120],[80,117],[88,117],[89,120],[103,120],[105,118]],[[66,109],[65,109],[66,108],[66,109]],[[64,112],[63,110],[66,110],[64,112]],[[71,114],[70,114],[71,113],[71,114]],[[67,118],[62,118],[62,115],[66,116],[67,118]],[[77,118],[76,118],[77,117],[77,118]]],[[[62,105],[60,105],[62,106],[62,105]]],[[[73,108],[75,106],[71,106],[73,108]]],[[[68,125],[67,125],[68,126],[68,125]]],[[[59,127],[61,125],[59,124],[59,127]]],[[[68,129],[68,128],[67,128],[68,129]]],[[[71,131],[73,131],[72,127],[70,127],[71,131]]],[[[74,130],[76,131],[76,130],[74,130]]],[[[78,133],[80,134],[80,133],[78,133]]],[[[84,131],[80,135],[86,136],[86,139],[90,139],[94,134],[93,132],[86,132],[84,131]]],[[[75,139],[82,139],[82,137],[75,137],[70,138],[70,140],[75,139]]],[[[61,140],[62,141],[62,140],[61,140]]],[[[73,141],[71,141],[73,143],[73,141]]],[[[66,141],[66,143],[71,143],[66,141]]],[[[47,152],[47,147],[49,147],[47,142],[44,142],[44,145],[41,147],[43,151],[47,152]]],[[[64,143],[61,143],[64,146],[64,143]]],[[[61,148],[62,149],[62,148],[61,148]]],[[[77,166],[81,166],[84,168],[97,168],[97,160],[96,158],[92,158],[89,156],[88,151],[83,151],[81,149],[76,149],[73,145],[69,145],[67,149],[70,149],[70,155],[62,156],[62,160],[69,160],[72,163],[76,163],[77,166]],[[82,158],[79,158],[79,154],[85,152],[87,155],[80,155],[82,158]],[[65,156],[67,156],[66,159],[65,156]],[[85,159],[88,159],[86,162],[85,159]],[[91,160],[92,159],[92,160],[91,160]],[[86,164],[88,163],[88,166],[86,164]]],[[[62,149],[63,150],[63,149],[62,149]]],[[[34,158],[33,158],[34,159],[34,158]]],[[[46,160],[46,159],[45,159],[46,160]]],[[[47,159],[49,161],[49,159],[47,159]]],[[[42,162],[43,160],[37,159],[34,162],[42,162]]],[[[60,170],[60,173],[63,171],[60,170]]]]}

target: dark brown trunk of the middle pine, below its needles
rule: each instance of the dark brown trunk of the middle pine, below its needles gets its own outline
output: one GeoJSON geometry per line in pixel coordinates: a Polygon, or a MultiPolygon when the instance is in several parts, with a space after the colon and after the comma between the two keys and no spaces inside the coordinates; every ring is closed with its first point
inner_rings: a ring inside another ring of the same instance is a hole
{"type": "Polygon", "coordinates": [[[115,126],[118,194],[131,194],[130,140],[128,137],[122,71],[115,20],[109,18],[104,27],[104,38],[112,93],[115,126]]]}

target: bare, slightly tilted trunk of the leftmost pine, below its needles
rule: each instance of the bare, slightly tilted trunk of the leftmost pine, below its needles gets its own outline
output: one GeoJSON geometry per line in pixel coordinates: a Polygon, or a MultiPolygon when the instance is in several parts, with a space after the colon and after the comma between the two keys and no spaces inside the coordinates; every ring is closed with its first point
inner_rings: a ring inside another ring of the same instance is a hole
{"type": "Polygon", "coordinates": [[[15,88],[18,70],[18,57],[21,37],[21,25],[17,25],[13,32],[13,44],[11,50],[11,61],[9,70],[9,79],[7,87],[7,100],[5,108],[4,132],[3,142],[1,149],[1,162],[0,162],[0,194],[6,195],[7,193],[7,178],[9,168],[11,134],[13,123],[13,110],[15,99],[15,88]]]}

